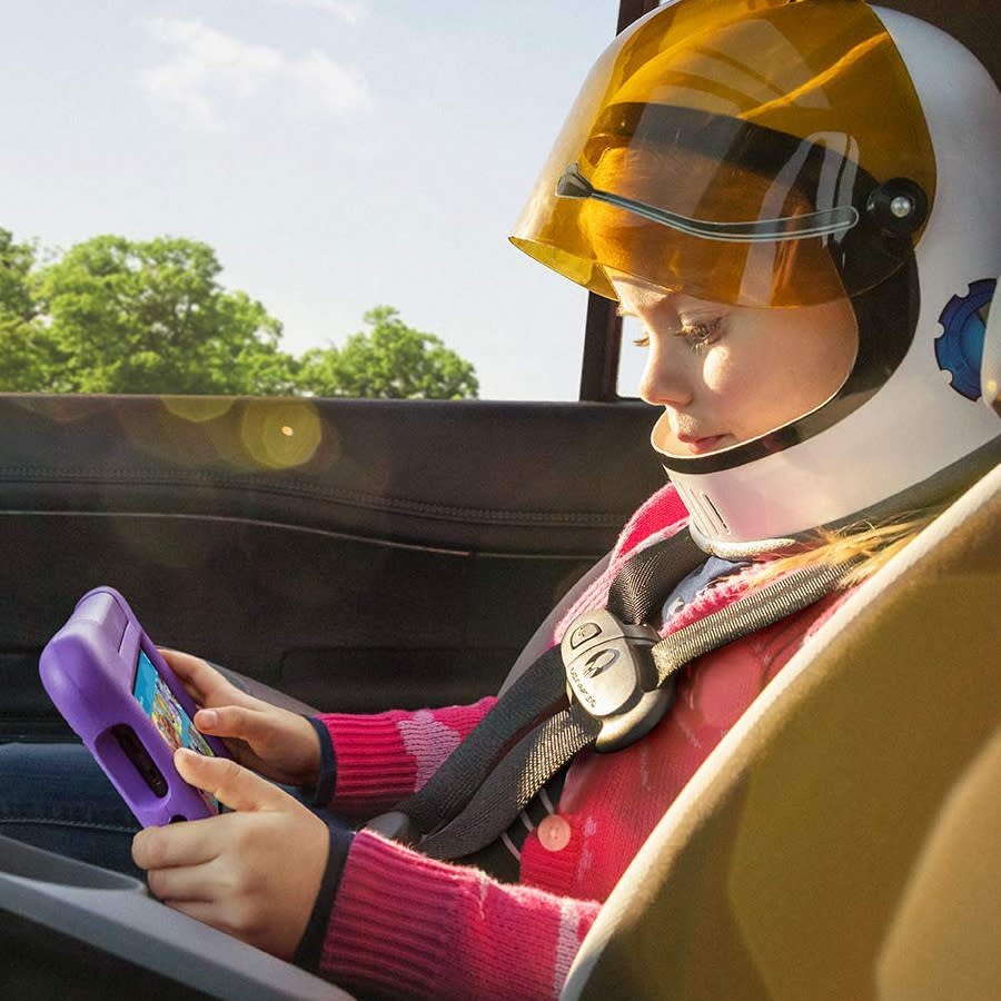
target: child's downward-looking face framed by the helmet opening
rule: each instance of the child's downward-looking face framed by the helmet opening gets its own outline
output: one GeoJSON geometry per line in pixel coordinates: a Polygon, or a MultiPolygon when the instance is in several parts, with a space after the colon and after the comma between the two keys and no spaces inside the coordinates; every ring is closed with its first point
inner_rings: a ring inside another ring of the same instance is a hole
{"type": "Polygon", "coordinates": [[[609,277],[622,313],[643,326],[650,356],[640,395],[664,408],[654,444],[670,455],[705,455],[774,430],[830,399],[854,363],[846,298],[759,309],[609,277]]]}

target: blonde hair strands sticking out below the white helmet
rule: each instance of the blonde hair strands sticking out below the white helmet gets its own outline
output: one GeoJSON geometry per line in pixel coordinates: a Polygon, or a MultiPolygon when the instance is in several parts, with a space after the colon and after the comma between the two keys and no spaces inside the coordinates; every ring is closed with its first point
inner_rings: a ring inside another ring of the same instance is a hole
{"type": "Polygon", "coordinates": [[[836,531],[819,529],[812,544],[807,542],[795,553],[763,564],[761,573],[754,578],[754,587],[761,587],[783,574],[817,563],[844,566],[855,561],[858,561],[855,566],[841,578],[838,586],[846,588],[861,584],[885,566],[915,535],[926,528],[945,506],[943,504],[909,512],[880,525],[862,522],[836,531]]]}

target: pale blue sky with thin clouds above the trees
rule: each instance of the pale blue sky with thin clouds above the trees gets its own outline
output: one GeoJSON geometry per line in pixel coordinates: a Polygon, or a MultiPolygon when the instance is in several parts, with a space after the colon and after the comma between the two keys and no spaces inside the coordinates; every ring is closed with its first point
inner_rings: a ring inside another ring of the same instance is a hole
{"type": "Polygon", "coordinates": [[[283,346],[395,306],[480,396],[575,399],[586,294],[507,242],[616,0],[0,4],[0,227],[215,248],[283,346]]]}

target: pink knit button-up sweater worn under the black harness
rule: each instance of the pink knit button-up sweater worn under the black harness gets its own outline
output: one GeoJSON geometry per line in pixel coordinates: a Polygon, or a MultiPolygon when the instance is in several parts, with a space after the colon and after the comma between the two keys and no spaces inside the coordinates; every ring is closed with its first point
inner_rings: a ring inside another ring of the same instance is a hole
{"type": "MultiPolygon", "coordinates": [[[[625,558],[678,531],[683,514],[671,487],[655,494],[626,526],[607,573],[564,624],[604,605],[625,558]]],[[[734,601],[752,574],[703,591],[668,630],[734,601]]],[[[556,997],[601,902],[664,811],[839,601],[829,597],[693,662],[678,678],[672,711],[650,735],[616,754],[578,755],[557,813],[524,844],[519,885],[359,832],[327,928],[321,971],[366,995],[556,997]]],[[[358,817],[392,807],[434,773],[493,703],[323,716],[337,755],[331,809],[358,817]]]]}

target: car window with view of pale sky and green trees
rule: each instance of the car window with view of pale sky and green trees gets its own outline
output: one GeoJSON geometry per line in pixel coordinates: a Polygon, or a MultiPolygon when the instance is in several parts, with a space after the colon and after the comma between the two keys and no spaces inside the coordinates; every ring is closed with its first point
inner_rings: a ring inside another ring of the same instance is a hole
{"type": "Polygon", "coordinates": [[[16,6],[0,388],[576,398],[586,295],[506,238],[616,13],[16,6]]]}

